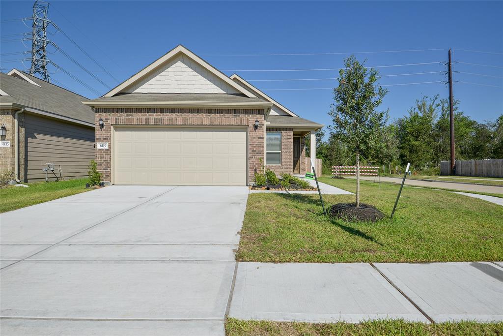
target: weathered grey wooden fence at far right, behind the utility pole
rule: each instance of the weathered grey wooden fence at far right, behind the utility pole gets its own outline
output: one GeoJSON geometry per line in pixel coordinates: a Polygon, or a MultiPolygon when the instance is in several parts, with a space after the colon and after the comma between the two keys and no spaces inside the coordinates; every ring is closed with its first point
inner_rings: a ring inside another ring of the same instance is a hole
{"type": "MultiPolygon", "coordinates": [[[[440,175],[450,175],[450,162],[440,163],[440,175]]],[[[476,177],[503,177],[503,159],[456,160],[454,175],[476,177]]]]}

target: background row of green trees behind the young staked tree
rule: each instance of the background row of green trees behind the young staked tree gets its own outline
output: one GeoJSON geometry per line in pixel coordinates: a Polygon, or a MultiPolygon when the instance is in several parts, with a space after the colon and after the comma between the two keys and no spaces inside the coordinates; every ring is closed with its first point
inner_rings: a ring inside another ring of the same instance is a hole
{"type": "MultiPolygon", "coordinates": [[[[502,159],[503,113],[496,120],[478,122],[459,109],[459,100],[453,106],[456,159],[502,159]]],[[[309,144],[306,150],[309,156],[309,144]]],[[[410,162],[414,171],[438,173],[440,162],[450,160],[449,100],[439,95],[416,100],[406,115],[383,127],[372,149],[360,154],[365,165],[385,166],[386,171],[410,162]]],[[[354,148],[333,125],[316,132],[316,156],[325,173],[331,166],[356,164],[354,148]]]]}

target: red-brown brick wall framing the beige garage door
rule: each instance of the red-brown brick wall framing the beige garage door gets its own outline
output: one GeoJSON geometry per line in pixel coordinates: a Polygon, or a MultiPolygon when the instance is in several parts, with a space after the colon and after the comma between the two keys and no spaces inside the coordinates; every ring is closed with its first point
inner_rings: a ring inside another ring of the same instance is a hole
{"type": "Polygon", "coordinates": [[[112,180],[111,130],[115,125],[177,125],[177,126],[247,126],[248,127],[248,183],[253,183],[264,160],[264,110],[211,108],[96,108],[96,142],[108,142],[108,150],[96,150],[98,169],[103,180],[112,180]],[[105,127],[100,129],[98,120],[105,127]],[[259,128],[254,128],[259,120],[259,128]]]}

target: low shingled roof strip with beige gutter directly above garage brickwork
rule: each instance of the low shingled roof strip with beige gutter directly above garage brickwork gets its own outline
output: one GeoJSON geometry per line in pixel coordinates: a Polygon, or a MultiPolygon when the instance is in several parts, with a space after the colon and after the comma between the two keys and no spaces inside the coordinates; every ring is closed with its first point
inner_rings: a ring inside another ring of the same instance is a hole
{"type": "Polygon", "coordinates": [[[121,93],[113,97],[101,97],[82,102],[92,106],[207,106],[207,105],[232,105],[232,106],[263,106],[272,104],[260,98],[248,98],[241,94],[214,94],[214,93],[121,93]]]}

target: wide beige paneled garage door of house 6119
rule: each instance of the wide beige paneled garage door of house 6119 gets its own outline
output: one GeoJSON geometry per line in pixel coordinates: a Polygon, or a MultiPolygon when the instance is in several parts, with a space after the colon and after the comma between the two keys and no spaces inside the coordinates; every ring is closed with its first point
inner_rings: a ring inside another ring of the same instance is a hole
{"type": "Polygon", "coordinates": [[[246,130],[115,127],[115,184],[246,185],[246,130]]]}

